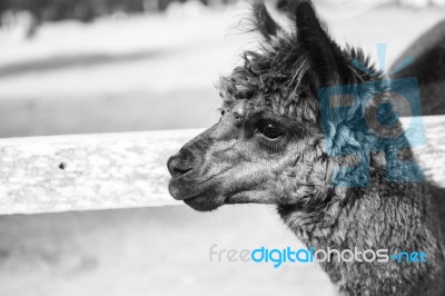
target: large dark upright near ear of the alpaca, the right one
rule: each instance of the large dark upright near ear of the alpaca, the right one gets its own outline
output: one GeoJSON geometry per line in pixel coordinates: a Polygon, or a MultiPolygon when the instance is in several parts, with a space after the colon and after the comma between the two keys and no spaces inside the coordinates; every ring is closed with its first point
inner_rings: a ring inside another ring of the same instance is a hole
{"type": "Polygon", "coordinates": [[[309,57],[322,87],[340,82],[347,67],[339,47],[323,28],[312,3],[298,2],[295,8],[298,46],[309,57]]]}

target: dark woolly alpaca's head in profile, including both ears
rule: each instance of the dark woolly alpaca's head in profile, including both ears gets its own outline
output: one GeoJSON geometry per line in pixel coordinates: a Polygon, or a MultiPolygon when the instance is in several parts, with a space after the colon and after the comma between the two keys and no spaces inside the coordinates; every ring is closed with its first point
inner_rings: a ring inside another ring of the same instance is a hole
{"type": "Polygon", "coordinates": [[[342,50],[309,2],[278,26],[263,3],[253,7],[257,51],[222,77],[221,118],[168,161],[171,195],[197,210],[224,204],[293,205],[315,211],[327,203],[335,165],[323,148],[318,89],[379,78],[350,67],[362,51],[342,50]]]}

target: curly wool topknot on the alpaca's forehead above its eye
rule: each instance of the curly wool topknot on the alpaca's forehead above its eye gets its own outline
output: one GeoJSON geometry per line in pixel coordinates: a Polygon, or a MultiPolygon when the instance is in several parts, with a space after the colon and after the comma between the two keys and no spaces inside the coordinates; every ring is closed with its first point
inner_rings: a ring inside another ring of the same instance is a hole
{"type": "Polygon", "coordinates": [[[218,88],[224,108],[231,110],[234,106],[243,106],[247,115],[267,112],[294,121],[313,121],[316,103],[310,97],[308,78],[305,78],[310,62],[289,39],[276,42],[279,46],[246,51],[244,63],[229,76],[220,77],[218,88]]]}

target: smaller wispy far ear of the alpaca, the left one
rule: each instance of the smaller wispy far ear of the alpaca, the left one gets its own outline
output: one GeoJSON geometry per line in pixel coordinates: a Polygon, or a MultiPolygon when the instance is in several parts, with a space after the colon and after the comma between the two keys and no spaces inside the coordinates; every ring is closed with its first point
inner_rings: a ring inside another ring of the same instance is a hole
{"type": "Polygon", "coordinates": [[[270,17],[263,1],[255,1],[253,3],[253,23],[255,29],[261,33],[266,41],[277,36],[277,32],[281,29],[270,17]]]}

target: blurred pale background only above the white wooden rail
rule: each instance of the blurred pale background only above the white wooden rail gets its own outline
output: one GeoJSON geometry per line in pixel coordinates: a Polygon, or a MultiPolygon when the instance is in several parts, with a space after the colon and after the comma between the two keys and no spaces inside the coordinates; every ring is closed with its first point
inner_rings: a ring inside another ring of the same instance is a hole
{"type": "MultiPolygon", "coordinates": [[[[408,2],[315,4],[340,43],[374,58],[387,43],[389,67],[445,14],[408,2]]],[[[256,43],[248,13],[235,0],[0,0],[0,137],[208,127],[218,75],[256,43]]]]}

